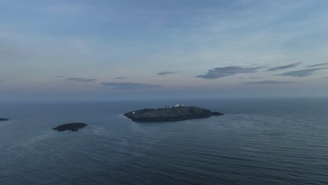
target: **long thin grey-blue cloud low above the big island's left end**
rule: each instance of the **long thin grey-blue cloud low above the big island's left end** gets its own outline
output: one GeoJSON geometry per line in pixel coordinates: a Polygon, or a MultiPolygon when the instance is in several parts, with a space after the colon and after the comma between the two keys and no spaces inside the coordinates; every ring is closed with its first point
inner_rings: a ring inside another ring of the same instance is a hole
{"type": "Polygon", "coordinates": [[[161,85],[151,85],[146,83],[132,83],[132,82],[125,82],[125,83],[115,83],[115,82],[102,82],[100,83],[105,85],[109,88],[115,89],[149,89],[149,88],[162,88],[161,85]]]}

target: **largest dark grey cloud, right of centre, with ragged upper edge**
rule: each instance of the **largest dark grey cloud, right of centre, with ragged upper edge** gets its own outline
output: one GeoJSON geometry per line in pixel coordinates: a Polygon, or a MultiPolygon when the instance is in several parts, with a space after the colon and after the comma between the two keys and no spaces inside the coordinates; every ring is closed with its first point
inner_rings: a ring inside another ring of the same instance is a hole
{"type": "Polygon", "coordinates": [[[196,78],[215,79],[222,78],[224,76],[233,76],[235,74],[252,74],[258,72],[257,69],[262,67],[240,67],[240,66],[228,66],[228,67],[215,67],[207,71],[207,74],[198,75],[196,78]]]}

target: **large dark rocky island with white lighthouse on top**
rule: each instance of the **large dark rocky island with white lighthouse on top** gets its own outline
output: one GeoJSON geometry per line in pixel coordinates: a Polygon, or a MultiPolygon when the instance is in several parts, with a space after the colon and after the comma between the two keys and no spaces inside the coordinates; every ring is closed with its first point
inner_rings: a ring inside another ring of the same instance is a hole
{"type": "Polygon", "coordinates": [[[219,112],[212,112],[200,107],[164,107],[160,109],[139,109],[130,111],[124,116],[136,122],[164,122],[164,121],[184,121],[195,118],[209,118],[211,116],[224,115],[219,112]]]}

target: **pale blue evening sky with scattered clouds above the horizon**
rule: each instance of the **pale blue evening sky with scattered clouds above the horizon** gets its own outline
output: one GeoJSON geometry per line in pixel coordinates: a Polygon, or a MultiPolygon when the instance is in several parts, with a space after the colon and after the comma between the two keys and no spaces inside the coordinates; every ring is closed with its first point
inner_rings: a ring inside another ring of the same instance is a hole
{"type": "Polygon", "coordinates": [[[326,0],[0,0],[0,100],[328,96],[326,0]]]}

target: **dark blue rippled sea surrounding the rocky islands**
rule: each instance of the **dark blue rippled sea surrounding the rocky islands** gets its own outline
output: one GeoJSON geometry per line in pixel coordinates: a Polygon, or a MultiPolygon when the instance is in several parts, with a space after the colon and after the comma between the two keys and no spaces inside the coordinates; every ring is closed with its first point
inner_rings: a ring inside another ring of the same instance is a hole
{"type": "Polygon", "coordinates": [[[328,184],[328,99],[184,100],[224,116],[135,123],[175,101],[3,103],[0,184],[328,184]],[[78,132],[51,130],[87,123],[78,132]]]}

